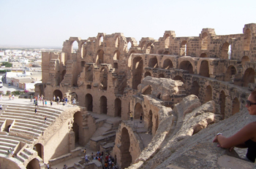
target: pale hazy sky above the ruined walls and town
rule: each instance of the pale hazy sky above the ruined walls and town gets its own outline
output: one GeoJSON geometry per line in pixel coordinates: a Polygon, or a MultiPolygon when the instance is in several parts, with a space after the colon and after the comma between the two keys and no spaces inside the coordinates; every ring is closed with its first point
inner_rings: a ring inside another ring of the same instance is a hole
{"type": "Polygon", "coordinates": [[[0,0],[0,45],[62,47],[69,36],[124,33],[138,42],[165,31],[242,34],[256,23],[256,0],[0,0]]]}

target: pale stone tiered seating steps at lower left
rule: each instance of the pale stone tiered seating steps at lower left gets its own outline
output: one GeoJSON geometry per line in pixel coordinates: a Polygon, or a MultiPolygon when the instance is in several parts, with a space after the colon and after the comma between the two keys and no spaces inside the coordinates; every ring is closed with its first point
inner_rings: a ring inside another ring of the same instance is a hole
{"type": "MultiPolygon", "coordinates": [[[[0,157],[7,158],[8,149],[14,149],[15,157],[9,160],[18,166],[26,166],[37,157],[37,152],[31,146],[62,112],[47,106],[38,106],[37,113],[34,113],[34,109],[34,105],[4,103],[0,111],[0,157]]],[[[43,162],[39,163],[44,168],[43,162]]]]}

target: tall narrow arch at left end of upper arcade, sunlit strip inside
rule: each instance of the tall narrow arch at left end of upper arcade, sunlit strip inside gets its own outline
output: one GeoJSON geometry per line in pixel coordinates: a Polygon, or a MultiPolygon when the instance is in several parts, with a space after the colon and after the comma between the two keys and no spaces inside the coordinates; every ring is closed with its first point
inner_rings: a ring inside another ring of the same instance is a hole
{"type": "Polygon", "coordinates": [[[132,89],[138,89],[138,84],[140,84],[142,78],[141,74],[143,74],[143,59],[136,57],[133,59],[132,65],[132,89]]]}

